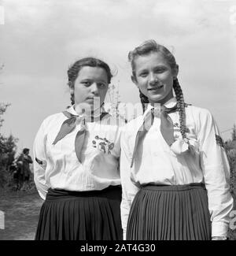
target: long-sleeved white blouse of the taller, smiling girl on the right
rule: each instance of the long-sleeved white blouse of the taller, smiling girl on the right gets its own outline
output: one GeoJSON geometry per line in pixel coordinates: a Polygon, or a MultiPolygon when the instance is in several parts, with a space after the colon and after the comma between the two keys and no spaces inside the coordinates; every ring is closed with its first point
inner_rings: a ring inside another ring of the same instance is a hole
{"type": "MultiPolygon", "coordinates": [[[[175,103],[176,99],[171,98],[164,106],[171,108],[175,103]]],[[[183,142],[179,130],[179,113],[169,113],[174,124],[175,137],[175,143],[169,147],[160,133],[160,112],[157,111],[149,132],[138,144],[134,164],[130,167],[138,128],[151,108],[149,105],[143,116],[130,121],[121,135],[121,218],[124,238],[128,214],[138,192],[138,184],[176,185],[200,182],[205,183],[208,191],[212,236],[226,236],[229,213],[233,208],[229,187],[230,168],[225,150],[220,143],[216,143],[219,131],[212,114],[207,109],[186,107],[186,128],[189,129],[186,136],[190,139],[190,145],[193,145],[190,152],[185,150],[186,143],[183,142]]]]}

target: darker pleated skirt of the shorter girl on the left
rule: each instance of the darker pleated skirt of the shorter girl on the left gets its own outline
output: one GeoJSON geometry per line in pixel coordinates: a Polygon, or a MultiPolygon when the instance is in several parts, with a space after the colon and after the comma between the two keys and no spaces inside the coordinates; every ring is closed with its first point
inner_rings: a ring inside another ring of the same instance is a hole
{"type": "Polygon", "coordinates": [[[49,189],[35,240],[122,239],[121,187],[101,191],[49,189]]]}

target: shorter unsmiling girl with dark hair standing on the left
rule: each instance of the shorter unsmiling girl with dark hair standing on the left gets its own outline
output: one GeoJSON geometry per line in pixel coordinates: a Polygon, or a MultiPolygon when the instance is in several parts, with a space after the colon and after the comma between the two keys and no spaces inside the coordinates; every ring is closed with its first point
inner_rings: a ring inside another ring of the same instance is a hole
{"type": "Polygon", "coordinates": [[[111,78],[104,61],[76,61],[68,69],[72,106],[39,128],[34,173],[45,202],[35,239],[122,239],[120,127],[102,108],[111,78]]]}

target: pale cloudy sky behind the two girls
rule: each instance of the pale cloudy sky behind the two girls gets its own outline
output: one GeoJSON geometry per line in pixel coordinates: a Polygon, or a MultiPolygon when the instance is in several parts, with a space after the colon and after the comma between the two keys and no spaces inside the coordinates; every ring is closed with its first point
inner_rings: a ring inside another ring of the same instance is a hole
{"type": "Polygon", "coordinates": [[[32,154],[42,120],[70,104],[67,70],[79,58],[106,61],[120,101],[139,102],[127,54],[147,39],[171,50],[185,101],[209,109],[230,139],[235,0],[0,0],[0,15],[0,102],[11,104],[1,132],[19,139],[19,152],[32,154]]]}

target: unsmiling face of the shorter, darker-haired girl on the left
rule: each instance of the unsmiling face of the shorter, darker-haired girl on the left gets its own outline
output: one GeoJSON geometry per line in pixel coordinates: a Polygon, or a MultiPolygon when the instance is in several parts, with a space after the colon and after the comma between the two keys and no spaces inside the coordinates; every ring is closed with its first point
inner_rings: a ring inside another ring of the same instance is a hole
{"type": "Polygon", "coordinates": [[[70,88],[70,92],[74,94],[76,106],[88,105],[91,108],[95,107],[94,104],[96,105],[99,100],[99,106],[96,105],[96,107],[101,106],[108,88],[108,76],[105,69],[84,66],[79,70],[74,87],[70,88]]]}

